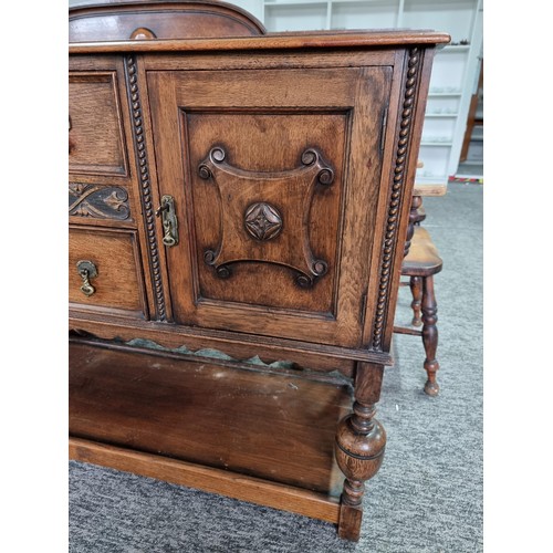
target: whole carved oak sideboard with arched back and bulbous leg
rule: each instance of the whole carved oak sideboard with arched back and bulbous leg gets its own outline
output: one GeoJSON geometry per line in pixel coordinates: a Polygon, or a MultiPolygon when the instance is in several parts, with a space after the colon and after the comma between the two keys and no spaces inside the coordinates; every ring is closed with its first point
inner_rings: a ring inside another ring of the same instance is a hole
{"type": "Polygon", "coordinates": [[[434,31],[70,10],[70,456],[357,540],[434,31]]]}

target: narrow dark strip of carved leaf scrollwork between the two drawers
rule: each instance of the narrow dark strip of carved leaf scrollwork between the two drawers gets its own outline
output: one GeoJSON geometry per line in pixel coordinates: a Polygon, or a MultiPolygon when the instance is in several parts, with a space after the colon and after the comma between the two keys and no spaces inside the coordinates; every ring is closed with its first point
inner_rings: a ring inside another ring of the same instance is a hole
{"type": "Polygon", "coordinates": [[[124,221],[131,217],[128,194],[117,186],[70,182],[69,215],[124,221]]]}

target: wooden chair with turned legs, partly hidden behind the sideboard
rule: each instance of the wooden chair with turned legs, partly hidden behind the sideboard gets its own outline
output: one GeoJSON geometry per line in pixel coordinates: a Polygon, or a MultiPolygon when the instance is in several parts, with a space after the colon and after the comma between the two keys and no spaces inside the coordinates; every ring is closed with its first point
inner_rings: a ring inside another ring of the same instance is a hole
{"type": "Polygon", "coordinates": [[[438,347],[438,327],[436,325],[438,322],[438,305],[434,291],[434,275],[441,271],[442,261],[430,233],[420,226],[420,222],[425,218],[422,199],[420,196],[414,196],[405,259],[401,265],[401,276],[407,276],[409,280],[400,284],[410,286],[414,316],[411,326],[394,326],[394,332],[422,337],[422,345],[426,352],[424,367],[428,375],[425,392],[429,396],[436,396],[439,392],[439,386],[436,382],[436,372],[440,365],[436,359],[436,349],[438,347]],[[422,326],[422,328],[417,330],[417,326],[422,326]]]}

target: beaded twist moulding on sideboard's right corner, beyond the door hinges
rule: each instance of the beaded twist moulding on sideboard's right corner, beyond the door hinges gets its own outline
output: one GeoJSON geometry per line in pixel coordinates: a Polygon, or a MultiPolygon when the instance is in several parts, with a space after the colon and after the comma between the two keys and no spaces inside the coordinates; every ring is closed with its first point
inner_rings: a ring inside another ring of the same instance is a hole
{"type": "Polygon", "coordinates": [[[419,49],[414,48],[409,51],[407,62],[407,81],[405,83],[404,104],[401,109],[401,122],[399,126],[399,142],[396,150],[396,165],[394,168],[394,184],[392,186],[392,196],[388,207],[388,220],[386,225],[386,234],[383,243],[383,260],[380,270],[380,281],[378,284],[378,301],[376,304],[376,316],[373,330],[373,347],[378,349],[382,345],[382,334],[385,322],[385,306],[388,296],[389,278],[392,271],[392,260],[394,257],[394,240],[397,232],[399,217],[401,188],[405,181],[405,168],[407,161],[407,150],[413,126],[413,106],[415,104],[415,94],[417,91],[417,77],[419,70],[419,49]]]}

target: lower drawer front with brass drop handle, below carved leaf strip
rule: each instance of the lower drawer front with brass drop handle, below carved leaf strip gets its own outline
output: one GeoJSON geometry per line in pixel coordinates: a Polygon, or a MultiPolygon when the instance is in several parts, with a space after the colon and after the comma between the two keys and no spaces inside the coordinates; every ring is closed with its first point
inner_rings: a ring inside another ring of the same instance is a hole
{"type": "Polygon", "coordinates": [[[136,233],[70,228],[71,309],[147,319],[136,233]]]}

